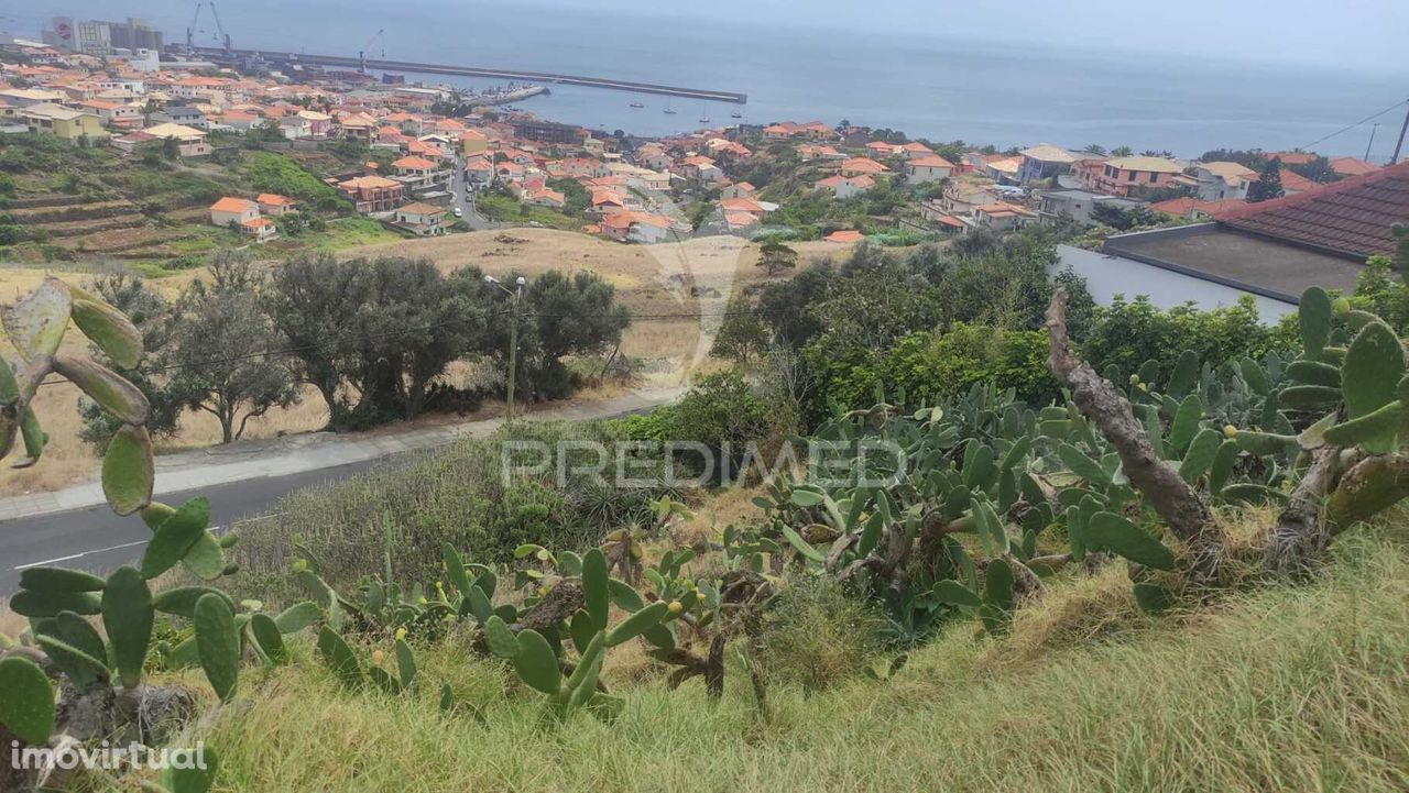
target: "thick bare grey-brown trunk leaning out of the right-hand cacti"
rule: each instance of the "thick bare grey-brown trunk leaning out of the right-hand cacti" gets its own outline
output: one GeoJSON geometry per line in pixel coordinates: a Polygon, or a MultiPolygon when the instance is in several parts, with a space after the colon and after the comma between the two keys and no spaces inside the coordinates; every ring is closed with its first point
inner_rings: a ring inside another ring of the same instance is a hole
{"type": "Polygon", "coordinates": [[[1081,414],[1091,420],[1116,448],[1130,483],[1164,518],[1169,530],[1193,555],[1193,569],[1203,579],[1217,576],[1223,544],[1209,506],[1179,472],[1160,459],[1144,428],[1130,411],[1130,403],[1089,363],[1071,352],[1067,334],[1067,290],[1057,287],[1047,307],[1050,352],[1047,366],[1081,414]]]}

